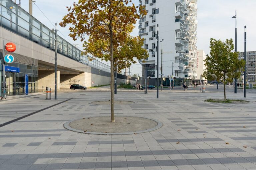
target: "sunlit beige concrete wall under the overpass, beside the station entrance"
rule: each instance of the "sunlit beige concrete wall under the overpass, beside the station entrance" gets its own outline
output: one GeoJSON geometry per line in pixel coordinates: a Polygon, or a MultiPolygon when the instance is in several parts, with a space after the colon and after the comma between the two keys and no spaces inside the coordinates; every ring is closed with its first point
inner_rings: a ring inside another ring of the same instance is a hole
{"type": "MultiPolygon", "coordinates": [[[[46,87],[52,88],[54,91],[55,88],[55,74],[54,71],[47,70],[38,70],[38,91],[42,90],[42,86],[44,86],[44,90],[46,87]]],[[[60,89],[60,71],[57,71],[57,89],[60,89]]]]}

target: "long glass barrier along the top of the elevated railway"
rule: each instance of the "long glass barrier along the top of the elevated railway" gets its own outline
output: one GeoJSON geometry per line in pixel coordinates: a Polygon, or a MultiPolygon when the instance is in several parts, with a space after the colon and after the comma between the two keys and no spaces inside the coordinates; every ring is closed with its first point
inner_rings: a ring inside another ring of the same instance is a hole
{"type": "MultiPolygon", "coordinates": [[[[55,51],[55,32],[47,28],[12,0],[0,0],[0,26],[26,39],[55,51]]],[[[58,53],[85,65],[110,72],[110,66],[98,60],[89,60],[81,50],[58,36],[58,53]]]]}

